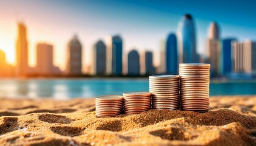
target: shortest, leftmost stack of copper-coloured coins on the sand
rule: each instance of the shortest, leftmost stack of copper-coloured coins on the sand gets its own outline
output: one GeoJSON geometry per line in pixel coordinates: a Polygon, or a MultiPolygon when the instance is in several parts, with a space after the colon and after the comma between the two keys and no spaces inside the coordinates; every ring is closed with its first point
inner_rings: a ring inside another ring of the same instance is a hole
{"type": "Polygon", "coordinates": [[[123,111],[122,96],[100,96],[96,97],[96,116],[115,117],[123,111]]]}

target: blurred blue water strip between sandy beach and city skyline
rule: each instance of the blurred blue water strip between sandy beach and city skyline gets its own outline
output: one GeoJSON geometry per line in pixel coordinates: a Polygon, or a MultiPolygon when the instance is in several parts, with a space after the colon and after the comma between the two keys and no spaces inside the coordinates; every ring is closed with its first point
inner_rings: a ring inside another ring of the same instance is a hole
{"type": "MultiPolygon", "coordinates": [[[[147,79],[29,79],[0,80],[0,97],[96,97],[148,91],[147,79]]],[[[210,83],[210,96],[256,95],[256,82],[210,83]]]]}

